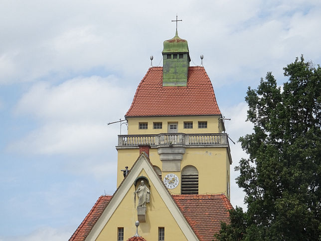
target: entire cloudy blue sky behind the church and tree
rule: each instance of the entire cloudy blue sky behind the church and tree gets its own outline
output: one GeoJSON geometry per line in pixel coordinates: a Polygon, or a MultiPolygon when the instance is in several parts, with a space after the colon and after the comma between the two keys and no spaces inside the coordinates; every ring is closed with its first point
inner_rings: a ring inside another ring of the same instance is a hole
{"type": "MultiPolygon", "coordinates": [[[[114,193],[119,125],[107,123],[124,117],[150,55],[162,64],[176,13],[234,141],[251,132],[248,86],[268,71],[282,85],[282,68],[301,54],[321,63],[319,0],[3,0],[0,241],[67,240],[98,197],[114,193]]],[[[246,154],[231,151],[234,167],[246,154]]],[[[237,175],[231,203],[244,207],[237,175]]]]}

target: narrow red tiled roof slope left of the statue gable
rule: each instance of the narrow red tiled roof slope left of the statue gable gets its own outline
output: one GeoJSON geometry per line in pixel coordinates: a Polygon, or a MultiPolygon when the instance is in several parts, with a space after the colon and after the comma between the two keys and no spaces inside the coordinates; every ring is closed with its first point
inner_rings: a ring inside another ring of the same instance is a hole
{"type": "Polygon", "coordinates": [[[91,229],[96,224],[97,220],[104,212],[113,196],[100,196],[94,207],[87,214],[86,218],[79,225],[75,233],[71,236],[69,241],[83,241],[88,236],[91,229]]]}

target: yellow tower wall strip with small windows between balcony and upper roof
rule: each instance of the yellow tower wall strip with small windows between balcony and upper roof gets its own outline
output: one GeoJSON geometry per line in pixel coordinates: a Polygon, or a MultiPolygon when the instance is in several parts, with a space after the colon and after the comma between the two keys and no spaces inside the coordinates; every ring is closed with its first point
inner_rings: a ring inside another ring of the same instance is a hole
{"type": "Polygon", "coordinates": [[[178,123],[181,133],[221,133],[220,116],[128,117],[128,135],[167,133],[168,123],[178,123]],[[184,129],[184,122],[193,122],[193,129],[184,129]],[[207,128],[198,128],[198,121],[207,121],[207,128]],[[162,129],[153,129],[154,122],[162,122],[162,129]],[[139,123],[148,123],[148,129],[139,129],[139,123]]]}

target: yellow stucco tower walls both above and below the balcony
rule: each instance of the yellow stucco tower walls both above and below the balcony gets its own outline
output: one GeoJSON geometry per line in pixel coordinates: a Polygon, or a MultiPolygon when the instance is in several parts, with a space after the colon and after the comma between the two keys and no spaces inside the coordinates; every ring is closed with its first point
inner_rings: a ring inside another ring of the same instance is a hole
{"type": "MultiPolygon", "coordinates": [[[[223,130],[221,116],[173,116],[173,117],[128,117],[128,135],[147,135],[167,133],[168,123],[177,123],[177,132],[186,134],[221,133],[223,130]],[[184,122],[192,121],[193,129],[184,129],[184,122]],[[198,121],[207,121],[207,128],[198,128],[198,121]],[[162,129],[153,129],[154,122],[162,122],[162,129]],[[139,123],[148,123],[148,129],[139,129],[139,123]]],[[[120,170],[125,166],[131,168],[139,156],[139,148],[118,149],[117,186],[124,176],[120,170]]],[[[198,193],[225,193],[227,195],[229,181],[228,149],[223,147],[185,148],[180,170],[192,165],[198,170],[198,193]]],[[[162,170],[162,162],[157,148],[150,149],[150,160],[162,170]]],[[[162,178],[175,174],[181,180],[179,172],[163,172],[162,178]]],[[[175,189],[169,190],[172,194],[180,194],[180,182],[175,189]]]]}

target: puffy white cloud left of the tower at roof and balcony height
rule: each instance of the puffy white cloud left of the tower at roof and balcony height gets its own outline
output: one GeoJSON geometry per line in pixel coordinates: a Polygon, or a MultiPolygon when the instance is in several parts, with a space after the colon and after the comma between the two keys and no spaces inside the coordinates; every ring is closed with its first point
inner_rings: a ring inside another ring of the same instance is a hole
{"type": "MultiPolygon", "coordinates": [[[[31,116],[40,125],[8,147],[32,154],[83,155],[117,144],[118,125],[132,96],[114,77],[74,78],[57,86],[34,84],[18,101],[17,116],[31,116]]],[[[124,129],[123,129],[124,131],[124,129]]]]}

